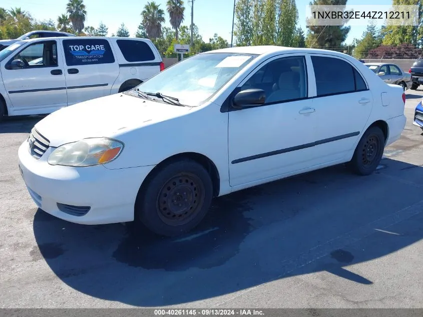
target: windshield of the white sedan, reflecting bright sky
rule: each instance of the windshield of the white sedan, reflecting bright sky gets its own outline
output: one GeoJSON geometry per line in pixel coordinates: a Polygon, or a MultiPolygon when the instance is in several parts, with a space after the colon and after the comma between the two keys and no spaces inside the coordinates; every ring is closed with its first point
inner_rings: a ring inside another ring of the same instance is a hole
{"type": "Polygon", "coordinates": [[[198,106],[250,63],[256,55],[207,53],[194,55],[138,86],[146,93],[161,93],[198,106]]]}

